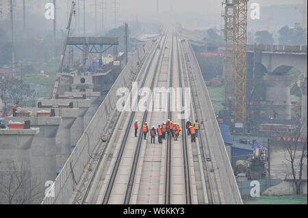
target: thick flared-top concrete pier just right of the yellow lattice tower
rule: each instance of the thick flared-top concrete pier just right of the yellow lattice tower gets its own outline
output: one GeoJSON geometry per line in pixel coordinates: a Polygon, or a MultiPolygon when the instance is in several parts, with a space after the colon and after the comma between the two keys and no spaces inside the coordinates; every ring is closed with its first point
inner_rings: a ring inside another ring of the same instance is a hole
{"type": "Polygon", "coordinates": [[[266,87],[267,117],[290,120],[292,77],[285,73],[268,73],[263,77],[266,87]]]}

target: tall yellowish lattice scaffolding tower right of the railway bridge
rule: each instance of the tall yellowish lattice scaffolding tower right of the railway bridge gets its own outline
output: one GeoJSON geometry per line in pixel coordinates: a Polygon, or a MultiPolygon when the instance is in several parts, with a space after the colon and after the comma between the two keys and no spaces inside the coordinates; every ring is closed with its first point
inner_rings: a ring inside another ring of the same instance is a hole
{"type": "Polygon", "coordinates": [[[225,103],[235,128],[246,129],[246,46],[248,0],[224,0],[225,103]]]}

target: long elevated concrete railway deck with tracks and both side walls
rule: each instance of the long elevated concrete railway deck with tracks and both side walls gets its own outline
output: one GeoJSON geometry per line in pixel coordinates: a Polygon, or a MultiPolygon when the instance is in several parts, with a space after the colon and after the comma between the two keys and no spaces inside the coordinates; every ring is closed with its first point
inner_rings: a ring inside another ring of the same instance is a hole
{"type": "Polygon", "coordinates": [[[133,55],[52,188],[42,204],[242,204],[196,57],[174,29],[146,44],[145,53],[140,49],[133,55]],[[168,95],[166,110],[149,105],[151,98],[142,98],[139,91],[137,99],[146,99],[143,103],[153,110],[119,111],[120,105],[137,104],[136,99],[129,104],[130,98],[120,101],[116,95],[120,87],[135,88],[133,81],[139,88],[149,87],[154,98],[159,95],[155,87],[190,87],[190,91],[168,95]],[[183,107],[186,113],[181,113],[183,107]],[[151,144],[149,135],[142,138],[144,122],[157,128],[168,118],[183,128],[177,141],[167,137],[158,144],[156,137],[156,144],[151,144]],[[133,135],[135,120],[138,137],[133,135]],[[186,120],[201,124],[196,143],[185,133],[186,120]]]}

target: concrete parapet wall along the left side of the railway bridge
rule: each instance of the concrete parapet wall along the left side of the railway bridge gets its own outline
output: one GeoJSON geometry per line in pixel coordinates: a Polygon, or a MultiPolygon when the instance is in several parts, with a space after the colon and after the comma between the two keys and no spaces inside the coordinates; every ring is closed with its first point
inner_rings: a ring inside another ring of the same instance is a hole
{"type": "MultiPolygon", "coordinates": [[[[149,44],[146,45],[145,49],[146,51],[149,49],[149,44]]],[[[112,116],[116,113],[116,92],[119,87],[127,87],[132,81],[138,68],[137,62],[140,62],[140,56],[144,56],[141,47],[134,53],[112,85],[110,92],[108,92],[83,135],[81,135],[60,174],[55,178],[50,196],[44,197],[42,204],[68,204],[74,187],[84,172],[95,146],[99,143],[102,133],[107,131],[107,123],[112,120],[112,116]]]]}

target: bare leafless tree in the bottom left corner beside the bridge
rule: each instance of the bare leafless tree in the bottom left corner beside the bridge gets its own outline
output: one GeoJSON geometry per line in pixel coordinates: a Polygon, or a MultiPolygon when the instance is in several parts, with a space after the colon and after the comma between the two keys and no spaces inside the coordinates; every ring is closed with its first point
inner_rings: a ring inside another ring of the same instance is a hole
{"type": "Polygon", "coordinates": [[[11,161],[0,174],[0,204],[39,204],[41,191],[31,178],[26,163],[11,161]]]}

